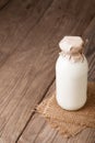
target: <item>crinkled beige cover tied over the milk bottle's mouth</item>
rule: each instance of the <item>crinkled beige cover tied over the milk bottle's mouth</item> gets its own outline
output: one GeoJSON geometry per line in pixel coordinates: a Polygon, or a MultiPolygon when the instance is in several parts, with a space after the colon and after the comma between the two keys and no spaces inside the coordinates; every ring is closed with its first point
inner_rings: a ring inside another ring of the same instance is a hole
{"type": "Polygon", "coordinates": [[[83,61],[84,41],[81,36],[64,36],[59,46],[62,51],[60,53],[62,56],[73,62],[83,61]]]}

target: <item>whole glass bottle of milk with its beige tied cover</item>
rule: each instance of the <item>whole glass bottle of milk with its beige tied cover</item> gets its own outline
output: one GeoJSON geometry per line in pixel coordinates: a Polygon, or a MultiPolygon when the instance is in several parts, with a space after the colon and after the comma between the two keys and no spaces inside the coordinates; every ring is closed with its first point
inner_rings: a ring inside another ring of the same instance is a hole
{"type": "Polygon", "coordinates": [[[87,99],[88,65],[80,36],[64,36],[59,43],[61,53],[56,63],[56,99],[66,110],[79,110],[87,99]]]}

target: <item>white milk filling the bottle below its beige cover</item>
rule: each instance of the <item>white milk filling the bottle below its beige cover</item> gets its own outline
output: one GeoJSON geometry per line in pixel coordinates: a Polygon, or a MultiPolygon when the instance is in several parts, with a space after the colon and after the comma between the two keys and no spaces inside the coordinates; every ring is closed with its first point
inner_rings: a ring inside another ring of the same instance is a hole
{"type": "Polygon", "coordinates": [[[84,55],[83,57],[83,61],[72,62],[67,56],[59,55],[56,63],[56,98],[58,105],[66,110],[78,110],[86,102],[88,66],[84,55]]]}

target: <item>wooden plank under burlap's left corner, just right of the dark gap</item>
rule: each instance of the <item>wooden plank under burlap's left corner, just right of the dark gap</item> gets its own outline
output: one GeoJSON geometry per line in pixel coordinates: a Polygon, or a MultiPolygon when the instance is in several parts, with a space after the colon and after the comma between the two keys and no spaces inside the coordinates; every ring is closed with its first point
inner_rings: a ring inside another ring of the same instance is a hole
{"type": "MultiPolygon", "coordinates": [[[[55,82],[50,86],[50,89],[46,94],[45,98],[50,96],[55,90],[55,82]]],[[[21,135],[19,143],[51,143],[57,135],[57,131],[51,128],[45,119],[35,113],[24,133],[21,135]]]]}

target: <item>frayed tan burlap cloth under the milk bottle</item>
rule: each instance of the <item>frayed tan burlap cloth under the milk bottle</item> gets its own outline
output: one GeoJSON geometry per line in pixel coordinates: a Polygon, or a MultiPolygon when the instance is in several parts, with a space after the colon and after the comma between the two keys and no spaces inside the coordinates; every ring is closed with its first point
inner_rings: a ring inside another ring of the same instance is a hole
{"type": "Polygon", "coordinates": [[[87,102],[78,111],[61,109],[55,92],[37,107],[37,111],[66,138],[74,136],[85,128],[95,128],[95,82],[88,82],[87,102]]]}

